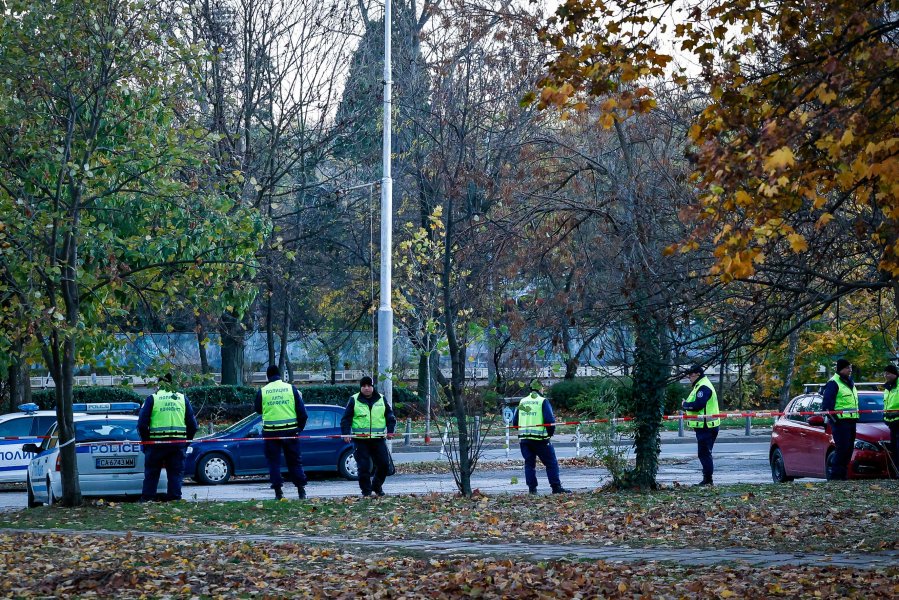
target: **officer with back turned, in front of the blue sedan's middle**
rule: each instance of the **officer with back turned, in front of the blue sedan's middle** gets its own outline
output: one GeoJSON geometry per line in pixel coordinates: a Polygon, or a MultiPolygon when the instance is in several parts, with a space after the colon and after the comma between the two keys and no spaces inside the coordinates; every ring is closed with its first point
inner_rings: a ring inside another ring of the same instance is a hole
{"type": "Polygon", "coordinates": [[[262,438],[265,460],[268,463],[269,481],[275,490],[275,499],[284,497],[281,489],[281,451],[287,463],[290,479],[297,486],[300,500],[306,497],[306,473],[300,456],[300,440],[297,436],[306,427],[309,415],[303,404],[303,395],[293,385],[281,380],[281,370],[271,365],[265,371],[268,383],[256,393],[255,409],[262,415],[262,438]]]}

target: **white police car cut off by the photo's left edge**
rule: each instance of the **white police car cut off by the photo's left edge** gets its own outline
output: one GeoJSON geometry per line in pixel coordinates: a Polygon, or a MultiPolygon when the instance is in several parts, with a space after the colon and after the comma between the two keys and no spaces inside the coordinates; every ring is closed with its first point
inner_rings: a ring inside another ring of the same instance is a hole
{"type": "MultiPolygon", "coordinates": [[[[86,404],[75,404],[73,410],[86,410],[86,404]]],[[[56,423],[55,410],[38,410],[37,404],[21,404],[22,412],[0,415],[0,483],[22,483],[28,463],[34,457],[22,450],[23,444],[40,444],[41,437],[56,423]]]]}

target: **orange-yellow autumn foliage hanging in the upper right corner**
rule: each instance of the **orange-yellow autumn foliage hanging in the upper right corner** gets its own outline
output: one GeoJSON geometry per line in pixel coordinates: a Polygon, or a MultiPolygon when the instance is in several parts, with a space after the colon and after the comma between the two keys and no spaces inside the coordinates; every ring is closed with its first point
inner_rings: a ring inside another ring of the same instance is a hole
{"type": "Polygon", "coordinates": [[[701,90],[699,226],[671,251],[713,240],[712,273],[728,281],[839,228],[895,281],[897,30],[895,0],[568,0],[542,32],[558,54],[529,100],[581,110],[597,97],[609,127],[652,109],[649,82],[701,90]]]}

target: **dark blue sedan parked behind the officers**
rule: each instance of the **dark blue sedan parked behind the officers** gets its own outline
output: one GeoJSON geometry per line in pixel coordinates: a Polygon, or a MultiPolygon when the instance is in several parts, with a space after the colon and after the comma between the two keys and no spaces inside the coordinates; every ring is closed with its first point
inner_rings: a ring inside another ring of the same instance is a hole
{"type": "MultiPolygon", "coordinates": [[[[346,479],[358,479],[353,445],[340,436],[343,408],[307,404],[309,420],[301,435],[333,436],[300,439],[303,469],[336,471],[346,479]]],[[[224,431],[194,440],[187,449],[185,475],[206,485],[225,483],[234,475],[268,474],[263,452],[262,416],[252,414],[224,431]],[[240,441],[232,441],[235,438],[240,441]]]]}

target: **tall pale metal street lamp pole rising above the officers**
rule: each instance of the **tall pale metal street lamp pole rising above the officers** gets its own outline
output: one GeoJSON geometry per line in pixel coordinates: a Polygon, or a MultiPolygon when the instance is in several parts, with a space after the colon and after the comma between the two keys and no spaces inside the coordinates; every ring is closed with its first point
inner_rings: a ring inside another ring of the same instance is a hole
{"type": "Polygon", "coordinates": [[[384,0],[384,145],[381,157],[381,301],[378,306],[378,386],[393,406],[393,177],[391,175],[392,95],[391,0],[384,0]]]}

